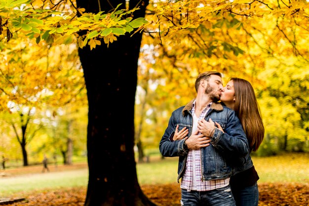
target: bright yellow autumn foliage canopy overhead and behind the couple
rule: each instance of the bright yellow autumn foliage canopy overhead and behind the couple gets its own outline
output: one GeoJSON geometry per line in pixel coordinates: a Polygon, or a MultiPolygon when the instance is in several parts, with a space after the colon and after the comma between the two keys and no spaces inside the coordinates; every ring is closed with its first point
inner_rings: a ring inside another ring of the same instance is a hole
{"type": "MultiPolygon", "coordinates": [[[[0,48],[5,55],[12,55],[10,64],[22,68],[20,56],[30,55],[31,50],[13,40],[27,38],[44,47],[89,44],[93,49],[97,45],[108,46],[120,35],[143,32],[138,88],[141,102],[136,104],[136,121],[143,120],[143,115],[146,120],[140,125],[143,141],[156,145],[171,110],[194,97],[196,75],[217,70],[224,74],[225,81],[237,76],[249,80],[256,89],[266,125],[261,152],[309,148],[307,0],[158,0],[148,5],[145,19],[135,19],[138,7],[128,10],[128,5],[118,5],[111,11],[85,13],[68,0],[2,0],[0,48]],[[103,42],[106,45],[101,45],[103,42]],[[4,51],[14,45],[20,46],[21,53],[4,51]],[[142,100],[146,104],[138,110],[142,100]],[[284,139],[289,140],[290,146],[284,146],[284,139]],[[271,146],[274,144],[279,149],[271,146]]],[[[0,69],[7,80],[13,74],[17,76],[16,71],[6,73],[3,68],[0,69]]],[[[20,89],[42,80],[33,75],[33,70],[42,68],[25,69],[23,75],[29,76],[22,79],[20,89]]],[[[60,76],[72,74],[59,73],[52,81],[60,76]]],[[[13,88],[17,79],[14,81],[13,88]]],[[[46,83],[54,88],[59,85],[46,83]]],[[[6,98],[12,87],[3,85],[1,97],[6,98]]],[[[65,82],[61,85],[69,88],[65,82]]],[[[36,93],[31,91],[27,90],[29,96],[34,96],[36,93]]],[[[5,98],[1,98],[1,105],[7,105],[5,98]]],[[[26,100],[20,98],[21,102],[26,100]]]]}

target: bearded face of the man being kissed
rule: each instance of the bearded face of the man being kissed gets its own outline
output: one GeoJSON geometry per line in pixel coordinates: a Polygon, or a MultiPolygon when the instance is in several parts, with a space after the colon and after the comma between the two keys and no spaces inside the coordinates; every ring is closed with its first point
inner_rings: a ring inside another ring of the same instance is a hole
{"type": "Polygon", "coordinates": [[[205,88],[205,94],[207,94],[213,102],[217,102],[220,100],[222,89],[223,85],[221,77],[218,75],[210,75],[205,88]]]}

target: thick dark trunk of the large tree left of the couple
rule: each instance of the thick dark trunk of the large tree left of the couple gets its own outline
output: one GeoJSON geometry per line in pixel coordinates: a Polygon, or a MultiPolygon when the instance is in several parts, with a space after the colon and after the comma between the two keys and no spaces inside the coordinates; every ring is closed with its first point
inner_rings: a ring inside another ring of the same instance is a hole
{"type": "MultiPolygon", "coordinates": [[[[100,0],[110,11],[125,0],[100,0]]],[[[130,0],[137,5],[139,0],[130,0]]],[[[141,1],[143,2],[143,1],[141,1]]],[[[148,1],[134,13],[144,17],[148,1]]],[[[97,13],[97,0],[77,0],[77,7],[97,13]]],[[[143,194],[134,159],[134,103],[142,34],[119,36],[109,48],[79,49],[88,96],[89,181],[85,206],[154,206],[143,194]],[[101,75],[102,74],[102,75],[101,75]]]]}

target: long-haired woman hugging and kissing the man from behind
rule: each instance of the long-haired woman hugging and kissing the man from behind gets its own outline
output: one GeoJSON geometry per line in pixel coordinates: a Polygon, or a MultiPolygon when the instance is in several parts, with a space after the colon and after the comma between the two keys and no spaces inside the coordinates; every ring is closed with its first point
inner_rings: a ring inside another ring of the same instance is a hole
{"type": "MultiPolygon", "coordinates": [[[[221,93],[220,101],[235,111],[246,133],[250,151],[257,151],[264,138],[264,125],[254,89],[250,82],[239,78],[230,78],[221,93]]],[[[215,124],[223,131],[220,124],[215,124]]],[[[202,126],[202,124],[200,125],[202,126]]],[[[186,128],[179,132],[177,130],[178,127],[176,127],[174,140],[188,138],[186,137],[188,134],[186,128]]],[[[241,167],[233,170],[230,179],[236,206],[257,206],[259,201],[258,173],[253,165],[246,170],[239,168],[241,167]]]]}

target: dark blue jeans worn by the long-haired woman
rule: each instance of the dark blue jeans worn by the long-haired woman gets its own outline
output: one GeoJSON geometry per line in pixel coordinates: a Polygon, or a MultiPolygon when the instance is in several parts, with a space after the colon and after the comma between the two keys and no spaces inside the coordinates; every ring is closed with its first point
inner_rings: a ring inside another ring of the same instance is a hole
{"type": "Polygon", "coordinates": [[[258,206],[259,188],[257,182],[242,189],[232,188],[236,206],[258,206]]]}

